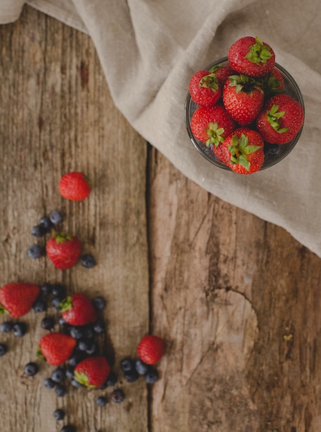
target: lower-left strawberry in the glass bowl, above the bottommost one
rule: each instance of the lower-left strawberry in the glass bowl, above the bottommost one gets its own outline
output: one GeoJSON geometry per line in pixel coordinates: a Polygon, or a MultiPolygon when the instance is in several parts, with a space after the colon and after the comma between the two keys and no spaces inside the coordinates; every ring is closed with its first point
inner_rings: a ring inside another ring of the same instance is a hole
{"type": "Polygon", "coordinates": [[[210,108],[199,106],[191,117],[191,132],[198,141],[207,147],[218,146],[235,128],[236,123],[227,113],[224,106],[216,105],[210,108]]]}

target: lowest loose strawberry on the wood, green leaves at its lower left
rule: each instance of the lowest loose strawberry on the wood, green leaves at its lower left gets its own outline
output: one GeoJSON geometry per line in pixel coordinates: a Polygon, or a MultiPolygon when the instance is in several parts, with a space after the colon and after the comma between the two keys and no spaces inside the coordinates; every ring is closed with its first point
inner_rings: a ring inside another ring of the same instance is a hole
{"type": "Polygon", "coordinates": [[[105,357],[87,357],[74,368],[74,379],[87,389],[99,389],[110,374],[105,357]]]}

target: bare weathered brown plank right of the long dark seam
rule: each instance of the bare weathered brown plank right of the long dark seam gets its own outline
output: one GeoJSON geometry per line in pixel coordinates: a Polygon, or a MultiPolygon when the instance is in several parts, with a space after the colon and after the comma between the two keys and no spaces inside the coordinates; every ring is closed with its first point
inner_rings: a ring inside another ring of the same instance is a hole
{"type": "Polygon", "coordinates": [[[320,431],[321,260],[149,159],[152,431],[320,431]]]}

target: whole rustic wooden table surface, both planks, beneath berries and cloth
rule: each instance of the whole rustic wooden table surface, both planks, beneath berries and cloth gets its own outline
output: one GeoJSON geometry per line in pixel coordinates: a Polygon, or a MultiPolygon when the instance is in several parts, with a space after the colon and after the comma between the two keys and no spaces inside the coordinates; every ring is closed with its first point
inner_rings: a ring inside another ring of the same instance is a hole
{"type": "Polygon", "coordinates": [[[125,391],[122,404],[99,408],[96,397],[110,401],[112,388],[68,386],[61,398],[45,389],[52,367],[36,359],[44,313],[30,311],[24,337],[0,335],[9,348],[1,432],[66,423],[77,432],[320,432],[320,258],[145,143],[115,108],[87,35],[25,6],[0,26],[0,44],[1,285],[59,282],[103,295],[107,355],[125,391]],[[83,202],[59,195],[69,170],[92,181],[83,202]],[[59,271],[28,258],[30,229],[54,209],[96,267],[59,271]],[[149,388],[119,368],[146,333],[167,347],[149,388]],[[34,377],[23,373],[30,361],[39,362],[34,377]],[[56,407],[65,422],[52,418],[56,407]]]}

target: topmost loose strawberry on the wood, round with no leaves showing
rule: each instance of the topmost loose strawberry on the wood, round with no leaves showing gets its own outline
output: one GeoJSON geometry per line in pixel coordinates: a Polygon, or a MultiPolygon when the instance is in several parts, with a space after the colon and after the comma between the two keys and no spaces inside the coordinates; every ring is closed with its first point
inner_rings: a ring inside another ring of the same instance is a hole
{"type": "Polygon", "coordinates": [[[61,196],[72,201],[81,201],[90,194],[90,184],[83,173],[67,173],[59,181],[61,196]]]}

